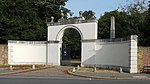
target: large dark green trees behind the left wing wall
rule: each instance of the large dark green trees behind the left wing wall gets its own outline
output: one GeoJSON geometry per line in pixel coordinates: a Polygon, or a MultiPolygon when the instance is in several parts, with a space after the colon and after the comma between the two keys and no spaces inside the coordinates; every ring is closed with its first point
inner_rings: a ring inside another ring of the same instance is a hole
{"type": "Polygon", "coordinates": [[[0,43],[8,39],[46,40],[47,21],[51,16],[55,21],[60,18],[60,5],[66,1],[0,0],[0,43]]]}

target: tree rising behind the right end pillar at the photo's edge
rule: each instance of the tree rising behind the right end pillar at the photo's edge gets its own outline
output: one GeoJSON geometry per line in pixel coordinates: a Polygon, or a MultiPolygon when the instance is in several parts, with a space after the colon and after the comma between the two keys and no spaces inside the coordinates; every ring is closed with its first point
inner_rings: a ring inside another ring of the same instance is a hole
{"type": "Polygon", "coordinates": [[[148,25],[149,15],[147,0],[143,0],[143,2],[137,1],[136,3],[129,5],[126,8],[126,12],[129,15],[130,28],[134,28],[134,32],[138,33],[139,45],[150,46],[150,26],[148,25]]]}

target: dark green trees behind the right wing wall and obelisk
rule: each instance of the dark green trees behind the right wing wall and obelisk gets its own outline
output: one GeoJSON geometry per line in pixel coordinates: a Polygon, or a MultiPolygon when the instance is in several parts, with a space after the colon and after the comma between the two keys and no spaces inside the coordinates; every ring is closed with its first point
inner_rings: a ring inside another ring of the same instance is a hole
{"type": "Polygon", "coordinates": [[[144,3],[134,3],[121,10],[106,12],[99,19],[99,38],[109,38],[110,18],[116,19],[116,37],[130,35],[139,36],[139,45],[150,46],[150,25],[148,6],[144,3]]]}

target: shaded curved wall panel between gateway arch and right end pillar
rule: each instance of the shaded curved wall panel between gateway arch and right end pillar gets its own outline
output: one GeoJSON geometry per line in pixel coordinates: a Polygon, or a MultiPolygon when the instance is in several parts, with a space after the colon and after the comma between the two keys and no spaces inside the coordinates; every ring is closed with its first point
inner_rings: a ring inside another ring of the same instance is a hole
{"type": "Polygon", "coordinates": [[[130,41],[97,42],[96,64],[129,67],[130,41]]]}

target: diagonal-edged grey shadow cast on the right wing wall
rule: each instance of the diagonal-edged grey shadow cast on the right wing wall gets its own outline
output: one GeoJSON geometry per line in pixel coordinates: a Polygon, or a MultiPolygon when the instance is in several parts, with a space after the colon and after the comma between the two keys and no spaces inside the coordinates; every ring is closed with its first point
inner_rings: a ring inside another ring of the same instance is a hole
{"type": "Polygon", "coordinates": [[[122,68],[129,71],[129,42],[104,43],[96,45],[95,55],[83,62],[87,67],[107,69],[122,68]]]}

